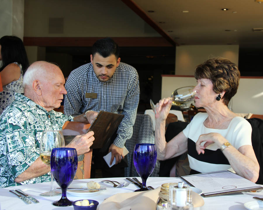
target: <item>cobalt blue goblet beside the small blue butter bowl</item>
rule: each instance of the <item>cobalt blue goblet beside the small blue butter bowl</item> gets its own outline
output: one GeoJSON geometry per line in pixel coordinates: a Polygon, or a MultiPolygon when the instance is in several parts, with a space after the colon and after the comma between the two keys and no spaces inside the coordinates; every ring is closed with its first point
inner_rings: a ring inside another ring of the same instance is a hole
{"type": "Polygon", "coordinates": [[[71,206],[67,198],[68,185],[72,182],[78,166],[78,156],[75,148],[54,148],[50,158],[51,173],[62,190],[62,197],[54,201],[54,206],[71,206]]]}

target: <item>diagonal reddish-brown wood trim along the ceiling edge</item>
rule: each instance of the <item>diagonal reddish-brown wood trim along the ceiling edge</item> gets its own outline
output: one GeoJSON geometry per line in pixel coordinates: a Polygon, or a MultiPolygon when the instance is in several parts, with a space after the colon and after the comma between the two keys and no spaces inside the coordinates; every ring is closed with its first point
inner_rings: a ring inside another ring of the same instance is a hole
{"type": "Polygon", "coordinates": [[[147,22],[155,31],[162,35],[169,43],[173,46],[179,46],[161,27],[159,27],[156,22],[151,19],[134,1],[132,0],[122,0],[131,10],[133,10],[137,15],[139,15],[145,22],[147,22]]]}

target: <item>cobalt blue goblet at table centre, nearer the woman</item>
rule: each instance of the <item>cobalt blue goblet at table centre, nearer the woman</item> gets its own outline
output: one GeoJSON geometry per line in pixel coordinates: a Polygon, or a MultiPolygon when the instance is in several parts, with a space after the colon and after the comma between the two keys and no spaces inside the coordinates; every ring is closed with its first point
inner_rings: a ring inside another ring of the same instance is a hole
{"type": "Polygon", "coordinates": [[[155,144],[139,143],[134,146],[133,163],[142,180],[141,189],[135,190],[134,192],[148,190],[146,180],[153,172],[156,159],[157,151],[155,144]]]}

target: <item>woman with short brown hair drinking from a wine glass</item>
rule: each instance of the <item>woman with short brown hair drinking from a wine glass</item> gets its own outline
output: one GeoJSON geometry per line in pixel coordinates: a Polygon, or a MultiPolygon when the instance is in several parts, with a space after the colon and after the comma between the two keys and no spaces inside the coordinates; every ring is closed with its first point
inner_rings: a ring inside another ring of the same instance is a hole
{"type": "Polygon", "coordinates": [[[168,143],[165,141],[165,119],[172,101],[161,99],[156,104],[155,144],[158,160],[188,152],[190,174],[230,170],[256,182],[259,164],[251,143],[252,128],[244,118],[227,108],[236,94],[240,72],[227,59],[214,58],[195,69],[197,85],[195,106],[198,113],[187,127],[168,143]]]}

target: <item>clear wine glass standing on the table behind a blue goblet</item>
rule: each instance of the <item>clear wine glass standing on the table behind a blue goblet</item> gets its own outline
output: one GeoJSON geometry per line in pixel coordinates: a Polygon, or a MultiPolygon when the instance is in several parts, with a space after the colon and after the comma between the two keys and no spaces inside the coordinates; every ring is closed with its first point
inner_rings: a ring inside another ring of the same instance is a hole
{"type": "MultiPolygon", "coordinates": [[[[42,162],[50,166],[50,156],[53,148],[65,147],[65,141],[61,130],[46,130],[43,131],[40,142],[40,158],[42,162]]],[[[53,174],[51,173],[51,189],[49,192],[40,194],[41,196],[57,196],[61,192],[53,189],[53,174]]]]}

